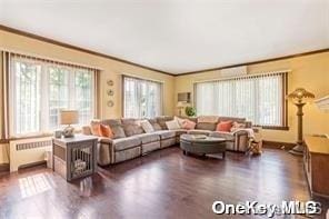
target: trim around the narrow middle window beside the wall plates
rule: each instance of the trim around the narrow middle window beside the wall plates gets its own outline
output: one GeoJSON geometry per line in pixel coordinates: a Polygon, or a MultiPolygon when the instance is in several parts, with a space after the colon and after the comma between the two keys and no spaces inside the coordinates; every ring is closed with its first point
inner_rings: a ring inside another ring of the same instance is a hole
{"type": "Polygon", "coordinates": [[[124,118],[124,102],[126,102],[126,96],[124,96],[124,90],[126,90],[126,87],[124,87],[124,79],[126,78],[132,78],[132,79],[137,79],[137,80],[142,80],[142,81],[150,81],[150,82],[156,82],[156,83],[159,83],[160,84],[160,102],[161,102],[161,106],[160,106],[160,115],[163,115],[163,101],[164,101],[164,96],[163,96],[163,81],[157,81],[157,80],[150,80],[150,79],[144,79],[144,78],[141,78],[141,77],[136,77],[136,76],[131,76],[131,74],[122,74],[121,77],[121,94],[122,94],[122,98],[121,98],[121,117],[124,118]]]}

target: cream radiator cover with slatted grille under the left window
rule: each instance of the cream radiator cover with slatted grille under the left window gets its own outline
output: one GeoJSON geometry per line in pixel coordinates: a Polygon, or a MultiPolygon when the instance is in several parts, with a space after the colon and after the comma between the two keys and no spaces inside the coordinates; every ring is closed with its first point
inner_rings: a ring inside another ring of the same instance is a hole
{"type": "Polygon", "coordinates": [[[10,141],[10,172],[22,166],[44,161],[44,153],[51,150],[51,137],[10,141]]]}

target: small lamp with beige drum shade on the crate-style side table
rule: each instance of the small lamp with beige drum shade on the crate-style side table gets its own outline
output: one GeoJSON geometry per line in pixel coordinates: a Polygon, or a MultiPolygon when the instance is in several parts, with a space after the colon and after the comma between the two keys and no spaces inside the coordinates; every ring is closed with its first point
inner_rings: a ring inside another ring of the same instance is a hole
{"type": "Polygon", "coordinates": [[[74,137],[74,128],[71,125],[79,123],[79,112],[78,110],[61,110],[60,111],[60,125],[67,126],[62,135],[64,138],[74,137]]]}

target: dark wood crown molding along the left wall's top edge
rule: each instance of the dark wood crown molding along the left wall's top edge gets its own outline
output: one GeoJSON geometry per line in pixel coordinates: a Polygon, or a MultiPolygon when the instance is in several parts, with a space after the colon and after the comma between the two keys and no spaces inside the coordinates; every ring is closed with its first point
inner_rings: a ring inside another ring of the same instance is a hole
{"type": "Polygon", "coordinates": [[[77,51],[86,52],[86,53],[89,53],[89,54],[94,54],[94,56],[98,56],[98,57],[111,59],[111,60],[114,60],[114,61],[119,61],[119,62],[122,62],[122,63],[127,63],[127,64],[131,64],[131,66],[134,66],[134,67],[143,68],[143,69],[147,69],[147,70],[157,71],[159,73],[164,73],[164,74],[168,74],[168,76],[176,76],[176,74],[167,72],[167,71],[150,68],[150,67],[147,67],[147,66],[143,66],[143,64],[139,64],[139,63],[136,63],[136,62],[132,62],[132,61],[128,61],[128,60],[124,60],[124,59],[120,59],[120,58],[112,57],[112,56],[109,56],[109,54],[104,54],[104,53],[101,53],[101,52],[97,52],[97,51],[93,51],[93,50],[89,50],[89,49],[84,49],[84,48],[77,47],[77,46],[73,46],[73,44],[69,44],[69,43],[66,43],[66,42],[57,41],[57,40],[53,40],[53,39],[50,39],[50,38],[41,37],[41,36],[34,34],[34,33],[31,33],[31,32],[27,32],[27,31],[14,29],[14,28],[10,28],[8,26],[0,24],[0,30],[11,32],[11,33],[14,33],[14,34],[19,34],[19,36],[23,36],[23,37],[28,37],[28,38],[31,38],[31,39],[34,39],[34,40],[48,42],[48,43],[51,43],[51,44],[64,47],[64,48],[68,48],[68,49],[73,49],[73,50],[77,50],[77,51]]]}

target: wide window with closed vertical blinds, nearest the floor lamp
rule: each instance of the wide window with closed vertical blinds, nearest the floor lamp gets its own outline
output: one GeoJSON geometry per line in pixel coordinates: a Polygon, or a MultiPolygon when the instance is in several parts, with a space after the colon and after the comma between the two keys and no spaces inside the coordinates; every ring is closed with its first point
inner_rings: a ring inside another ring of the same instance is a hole
{"type": "Polygon", "coordinates": [[[265,127],[286,126],[287,73],[196,83],[198,115],[243,117],[265,127]]]}

